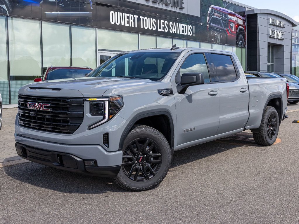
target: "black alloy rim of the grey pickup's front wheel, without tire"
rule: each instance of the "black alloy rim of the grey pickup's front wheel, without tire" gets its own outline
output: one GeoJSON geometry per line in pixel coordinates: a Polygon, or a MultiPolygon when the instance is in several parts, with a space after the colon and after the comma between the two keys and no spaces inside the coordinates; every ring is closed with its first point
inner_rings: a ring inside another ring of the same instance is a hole
{"type": "Polygon", "coordinates": [[[134,181],[151,179],[159,171],[161,163],[162,154],[152,139],[135,139],[123,151],[122,169],[134,181]]]}

